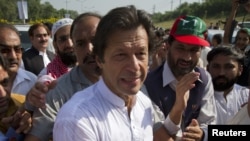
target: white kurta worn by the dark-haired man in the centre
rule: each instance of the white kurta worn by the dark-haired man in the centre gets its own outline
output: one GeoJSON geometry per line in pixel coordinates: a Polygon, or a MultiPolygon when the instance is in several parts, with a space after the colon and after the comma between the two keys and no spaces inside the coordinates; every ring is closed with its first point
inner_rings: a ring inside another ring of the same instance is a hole
{"type": "Polygon", "coordinates": [[[76,93],[57,117],[53,129],[56,141],[153,140],[150,99],[139,91],[128,115],[124,101],[113,94],[102,79],[76,93]]]}

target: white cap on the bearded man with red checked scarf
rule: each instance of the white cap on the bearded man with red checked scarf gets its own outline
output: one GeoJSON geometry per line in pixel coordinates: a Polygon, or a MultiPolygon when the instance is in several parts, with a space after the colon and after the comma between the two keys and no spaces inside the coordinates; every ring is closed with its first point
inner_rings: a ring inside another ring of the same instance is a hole
{"type": "Polygon", "coordinates": [[[52,38],[54,39],[54,35],[60,28],[66,26],[66,25],[72,25],[73,20],[70,18],[63,18],[58,21],[56,21],[52,26],[52,38]]]}

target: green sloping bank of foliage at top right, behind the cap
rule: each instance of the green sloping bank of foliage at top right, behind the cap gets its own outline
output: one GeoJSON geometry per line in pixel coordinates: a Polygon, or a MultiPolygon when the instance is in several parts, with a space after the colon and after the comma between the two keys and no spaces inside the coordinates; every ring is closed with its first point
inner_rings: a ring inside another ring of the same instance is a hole
{"type": "MultiPolygon", "coordinates": [[[[204,0],[203,3],[182,3],[174,11],[166,11],[164,14],[153,14],[154,22],[163,22],[175,19],[180,15],[194,15],[201,18],[218,18],[229,15],[231,11],[230,0],[204,0]]],[[[240,5],[242,6],[242,5],[240,5]]],[[[239,8],[237,15],[242,16],[246,13],[244,8],[239,8]]]]}

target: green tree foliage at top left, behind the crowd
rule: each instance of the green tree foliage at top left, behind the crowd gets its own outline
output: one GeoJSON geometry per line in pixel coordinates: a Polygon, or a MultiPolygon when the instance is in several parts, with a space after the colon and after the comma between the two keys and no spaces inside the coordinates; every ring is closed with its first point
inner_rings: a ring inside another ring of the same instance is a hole
{"type": "MultiPolygon", "coordinates": [[[[0,0],[0,21],[7,21],[11,23],[19,23],[22,20],[18,15],[18,0],[0,0]]],[[[34,23],[46,19],[58,19],[65,16],[68,12],[71,18],[75,18],[77,11],[55,9],[49,2],[41,4],[41,0],[26,0],[28,5],[28,19],[27,23],[34,23]]]]}

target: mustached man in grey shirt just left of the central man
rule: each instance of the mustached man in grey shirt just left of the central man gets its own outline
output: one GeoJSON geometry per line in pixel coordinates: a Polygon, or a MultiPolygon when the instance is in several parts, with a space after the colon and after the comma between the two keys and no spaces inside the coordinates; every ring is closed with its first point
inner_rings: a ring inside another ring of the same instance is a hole
{"type": "Polygon", "coordinates": [[[78,65],[56,80],[56,86],[37,82],[26,98],[26,108],[33,111],[33,127],[25,141],[48,141],[57,112],[72,95],[99,80],[100,71],[92,55],[92,40],[101,16],[83,13],[74,19],[70,37],[74,44],[78,65]],[[45,98],[46,95],[46,98],[45,98]],[[46,106],[45,106],[46,105],[46,106]],[[37,109],[34,109],[37,107],[37,109]]]}

